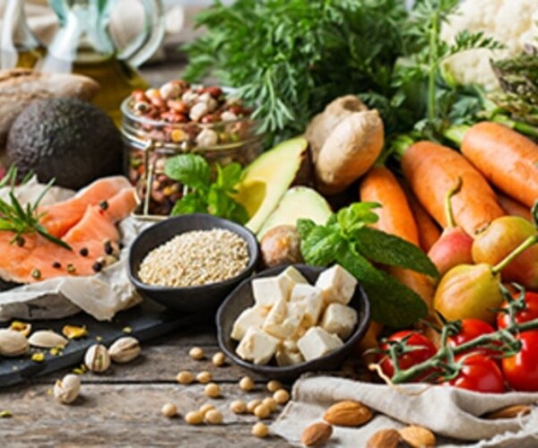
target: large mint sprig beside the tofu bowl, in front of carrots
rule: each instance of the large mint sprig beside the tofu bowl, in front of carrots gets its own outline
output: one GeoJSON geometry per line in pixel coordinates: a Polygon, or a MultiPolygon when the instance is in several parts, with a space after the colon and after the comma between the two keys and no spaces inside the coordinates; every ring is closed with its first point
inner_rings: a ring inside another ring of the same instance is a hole
{"type": "Polygon", "coordinates": [[[301,253],[317,266],[339,263],[360,281],[370,299],[372,317],[391,327],[404,327],[426,317],[428,307],[412,289],[373,263],[398,266],[437,276],[421,249],[400,237],[368,227],[377,222],[375,202],[357,202],[332,215],[326,224],[298,220],[301,253]]]}

